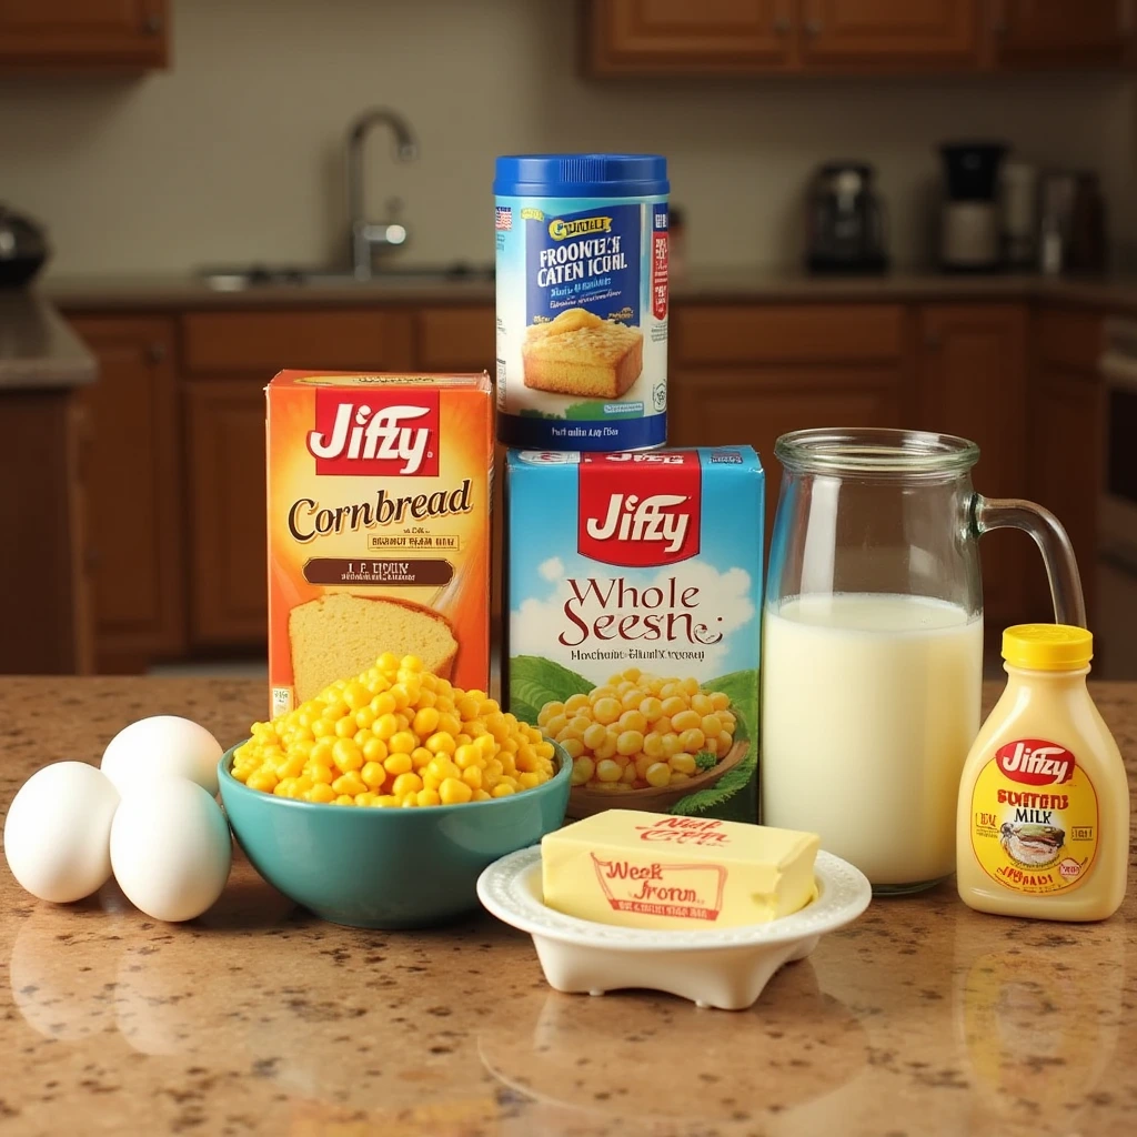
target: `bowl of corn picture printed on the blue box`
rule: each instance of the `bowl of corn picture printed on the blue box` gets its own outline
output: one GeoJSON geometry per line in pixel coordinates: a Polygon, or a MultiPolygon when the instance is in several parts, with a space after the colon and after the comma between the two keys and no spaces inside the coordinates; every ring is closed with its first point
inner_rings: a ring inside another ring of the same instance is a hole
{"type": "Polygon", "coordinates": [[[708,789],[746,760],[740,721],[725,691],[638,667],[546,703],[537,716],[545,737],[572,758],[572,818],[616,805],[666,812],[708,789]]]}

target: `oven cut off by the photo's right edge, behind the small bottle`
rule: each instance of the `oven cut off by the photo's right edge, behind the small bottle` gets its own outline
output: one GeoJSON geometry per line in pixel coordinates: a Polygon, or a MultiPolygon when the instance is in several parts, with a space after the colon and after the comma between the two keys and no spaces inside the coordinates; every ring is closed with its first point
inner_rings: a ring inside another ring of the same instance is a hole
{"type": "Polygon", "coordinates": [[[1105,455],[1097,521],[1095,671],[1137,678],[1137,321],[1109,321],[1099,370],[1105,455]]]}

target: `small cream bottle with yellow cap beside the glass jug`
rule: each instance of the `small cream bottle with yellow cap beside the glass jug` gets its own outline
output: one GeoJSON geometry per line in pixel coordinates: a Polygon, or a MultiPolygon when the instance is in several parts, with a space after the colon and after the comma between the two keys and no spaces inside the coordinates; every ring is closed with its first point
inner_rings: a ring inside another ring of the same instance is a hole
{"type": "Polygon", "coordinates": [[[1094,637],[1068,624],[1003,633],[1007,684],[963,766],[960,897],[980,912],[1104,920],[1126,895],[1129,786],[1086,688],[1094,637]]]}

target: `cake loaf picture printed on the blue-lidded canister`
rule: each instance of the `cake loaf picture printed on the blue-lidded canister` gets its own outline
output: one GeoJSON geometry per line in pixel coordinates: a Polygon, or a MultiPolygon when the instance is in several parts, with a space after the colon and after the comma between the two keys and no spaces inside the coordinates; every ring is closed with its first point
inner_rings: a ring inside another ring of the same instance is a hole
{"type": "Polygon", "coordinates": [[[525,333],[525,387],[619,399],[644,371],[644,334],[583,308],[570,308],[525,333]]]}

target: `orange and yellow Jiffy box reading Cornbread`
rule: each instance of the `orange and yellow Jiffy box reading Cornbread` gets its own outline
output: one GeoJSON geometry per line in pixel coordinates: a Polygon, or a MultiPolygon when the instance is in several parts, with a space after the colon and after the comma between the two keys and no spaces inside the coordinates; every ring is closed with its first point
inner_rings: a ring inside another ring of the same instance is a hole
{"type": "Polygon", "coordinates": [[[489,688],[489,376],[281,372],[266,388],[273,714],[384,652],[489,688]]]}

